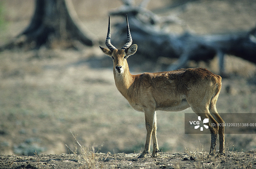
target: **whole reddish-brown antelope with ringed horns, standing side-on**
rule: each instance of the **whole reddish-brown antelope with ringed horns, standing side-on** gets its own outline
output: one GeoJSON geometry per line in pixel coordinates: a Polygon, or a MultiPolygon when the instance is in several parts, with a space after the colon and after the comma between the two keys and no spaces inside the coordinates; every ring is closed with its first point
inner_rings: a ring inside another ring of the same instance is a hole
{"type": "Polygon", "coordinates": [[[191,109],[202,119],[208,118],[206,125],[211,132],[210,154],[216,152],[219,134],[219,153],[224,153],[224,121],[216,110],[216,102],[221,88],[221,77],[203,68],[180,69],[169,72],[142,73],[133,75],[129,71],[127,58],[137,51],[132,45],[132,36],[126,16],[127,42],[116,49],[110,42],[110,17],[106,48],[100,49],[113,59],[113,72],[116,88],[137,111],[145,114],[147,137],[145,149],[139,158],[149,154],[151,137],[153,140],[152,157],[159,152],[156,139],[156,111],[181,111],[191,109]],[[215,116],[216,120],[213,118],[215,116]],[[212,125],[211,124],[215,124],[212,125]]]}

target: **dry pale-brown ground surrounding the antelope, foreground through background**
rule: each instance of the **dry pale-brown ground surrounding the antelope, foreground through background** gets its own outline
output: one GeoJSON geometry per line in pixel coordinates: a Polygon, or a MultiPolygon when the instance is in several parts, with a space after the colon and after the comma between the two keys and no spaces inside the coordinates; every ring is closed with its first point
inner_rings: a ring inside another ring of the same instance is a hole
{"type": "MultiPolygon", "coordinates": [[[[1,1],[6,22],[0,30],[0,45],[23,30],[33,13],[34,1],[17,2],[1,1]]],[[[121,3],[111,1],[109,4],[103,0],[100,5],[93,1],[74,2],[88,30],[104,41],[108,12],[121,3]]],[[[157,1],[149,4],[150,9],[162,15],[177,14],[198,34],[249,30],[255,26],[255,1],[195,1],[188,3],[184,12],[176,9],[161,13],[156,10],[160,7],[161,3],[157,1]]],[[[181,31],[179,25],[172,27],[174,32],[181,31]]],[[[136,54],[128,59],[132,73],[157,71],[155,63],[148,60],[138,63],[138,60],[136,54]]],[[[210,64],[190,62],[189,65],[218,73],[218,58],[210,64]]],[[[217,110],[219,113],[255,113],[256,66],[234,56],[225,56],[225,66],[229,78],[222,80],[217,110]]],[[[83,155],[67,155],[66,144],[78,154],[83,153],[75,146],[70,131],[76,134],[83,146],[106,153],[95,154],[98,159],[95,163],[99,167],[256,167],[255,134],[226,134],[226,151],[230,152],[209,161],[205,151],[210,149],[210,135],[184,134],[184,112],[192,110],[157,112],[158,142],[164,152],[160,157],[137,160],[138,154],[117,154],[142,150],[146,137],[144,114],[133,110],[117,91],[111,58],[104,56],[98,46],[84,47],[80,51],[42,47],[37,51],[14,49],[0,53],[2,168],[7,168],[7,164],[12,168],[58,168],[60,165],[65,168],[68,164],[70,166],[66,168],[83,168],[87,165],[83,155]],[[35,155],[35,150],[38,156],[29,157],[35,155]],[[107,155],[108,152],[112,155],[107,155]],[[195,161],[183,160],[187,156],[197,158],[195,161]]]]}

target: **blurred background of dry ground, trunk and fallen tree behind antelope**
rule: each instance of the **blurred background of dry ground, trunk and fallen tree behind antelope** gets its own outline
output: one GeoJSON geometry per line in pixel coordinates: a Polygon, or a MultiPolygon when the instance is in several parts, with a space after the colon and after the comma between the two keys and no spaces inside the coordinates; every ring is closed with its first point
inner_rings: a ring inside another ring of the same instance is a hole
{"type": "MultiPolygon", "coordinates": [[[[0,1],[0,153],[71,153],[66,145],[80,153],[71,132],[96,152],[143,150],[144,114],[118,92],[99,48],[108,15],[120,48],[128,14],[138,45],[127,60],[132,74],[204,67],[223,77],[220,115],[255,113],[255,9],[253,0],[0,1]]],[[[193,111],[157,111],[160,150],[208,151],[210,132],[184,134],[184,113],[193,111]]],[[[255,150],[255,131],[226,134],[226,150],[255,150]]]]}

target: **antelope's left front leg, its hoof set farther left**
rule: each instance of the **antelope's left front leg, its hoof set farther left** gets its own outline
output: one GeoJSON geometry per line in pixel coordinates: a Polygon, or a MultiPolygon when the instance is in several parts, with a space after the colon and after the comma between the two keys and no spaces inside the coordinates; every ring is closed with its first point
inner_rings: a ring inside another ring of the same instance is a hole
{"type": "MultiPolygon", "coordinates": [[[[146,122],[146,129],[147,129],[147,137],[146,137],[146,143],[145,143],[145,149],[144,151],[140,154],[140,156],[138,158],[143,158],[145,157],[147,154],[149,154],[150,151],[150,142],[151,142],[151,136],[152,136],[152,132],[153,132],[153,125],[154,125],[154,114],[155,111],[145,111],[145,122],[146,122]]],[[[158,147],[158,145],[157,145],[158,147]]]]}

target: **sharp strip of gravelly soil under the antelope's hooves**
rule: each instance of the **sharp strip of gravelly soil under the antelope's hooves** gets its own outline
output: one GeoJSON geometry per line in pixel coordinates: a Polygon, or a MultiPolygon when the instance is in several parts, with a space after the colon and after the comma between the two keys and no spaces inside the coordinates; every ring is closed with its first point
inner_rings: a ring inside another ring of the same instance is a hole
{"type": "Polygon", "coordinates": [[[82,168],[256,168],[256,152],[227,152],[224,156],[207,158],[207,153],[188,152],[160,154],[138,159],[138,154],[60,154],[37,156],[1,156],[1,169],[82,169],[82,168]]]}

